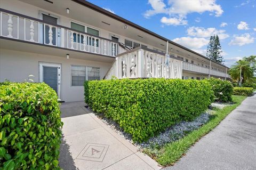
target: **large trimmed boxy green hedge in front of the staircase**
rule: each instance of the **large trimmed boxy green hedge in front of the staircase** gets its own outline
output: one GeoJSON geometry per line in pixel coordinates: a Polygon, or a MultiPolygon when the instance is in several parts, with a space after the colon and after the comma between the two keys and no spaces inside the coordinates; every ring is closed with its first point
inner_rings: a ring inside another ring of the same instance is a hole
{"type": "Polygon", "coordinates": [[[211,103],[211,95],[211,86],[205,80],[150,78],[85,83],[85,102],[93,111],[114,119],[139,142],[202,114],[211,103]]]}

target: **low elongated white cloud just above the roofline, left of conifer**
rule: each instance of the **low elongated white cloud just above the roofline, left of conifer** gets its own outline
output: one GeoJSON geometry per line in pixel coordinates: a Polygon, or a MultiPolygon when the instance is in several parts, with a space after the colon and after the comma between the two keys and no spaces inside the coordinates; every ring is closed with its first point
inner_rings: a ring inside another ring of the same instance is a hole
{"type": "Polygon", "coordinates": [[[187,48],[192,48],[198,50],[203,46],[208,44],[208,39],[206,38],[196,38],[196,37],[181,37],[181,38],[174,38],[172,41],[175,43],[181,44],[186,46],[187,48]]]}

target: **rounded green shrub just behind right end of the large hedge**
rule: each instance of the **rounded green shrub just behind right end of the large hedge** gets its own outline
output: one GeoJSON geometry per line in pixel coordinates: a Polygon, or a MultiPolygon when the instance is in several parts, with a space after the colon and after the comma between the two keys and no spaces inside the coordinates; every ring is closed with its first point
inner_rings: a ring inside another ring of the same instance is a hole
{"type": "Polygon", "coordinates": [[[211,84],[215,98],[223,102],[232,101],[233,85],[229,81],[213,77],[206,80],[211,84]]]}

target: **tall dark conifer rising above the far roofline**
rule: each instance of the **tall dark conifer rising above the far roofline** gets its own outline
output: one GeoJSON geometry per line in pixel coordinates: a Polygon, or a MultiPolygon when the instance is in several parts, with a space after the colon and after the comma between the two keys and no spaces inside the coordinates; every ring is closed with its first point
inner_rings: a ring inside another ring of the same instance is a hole
{"type": "Polygon", "coordinates": [[[216,61],[218,63],[223,63],[223,56],[221,55],[221,45],[220,45],[220,39],[218,35],[213,35],[210,37],[209,45],[207,46],[207,52],[206,56],[213,61],[216,61]]]}

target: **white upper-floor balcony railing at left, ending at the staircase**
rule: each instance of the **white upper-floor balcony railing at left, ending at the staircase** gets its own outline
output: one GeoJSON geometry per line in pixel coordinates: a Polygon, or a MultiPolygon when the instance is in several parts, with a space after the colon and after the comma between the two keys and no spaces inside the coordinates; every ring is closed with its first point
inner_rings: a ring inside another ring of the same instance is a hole
{"type": "Polygon", "coordinates": [[[123,52],[110,39],[0,9],[0,35],[22,41],[107,56],[123,52]]]}

